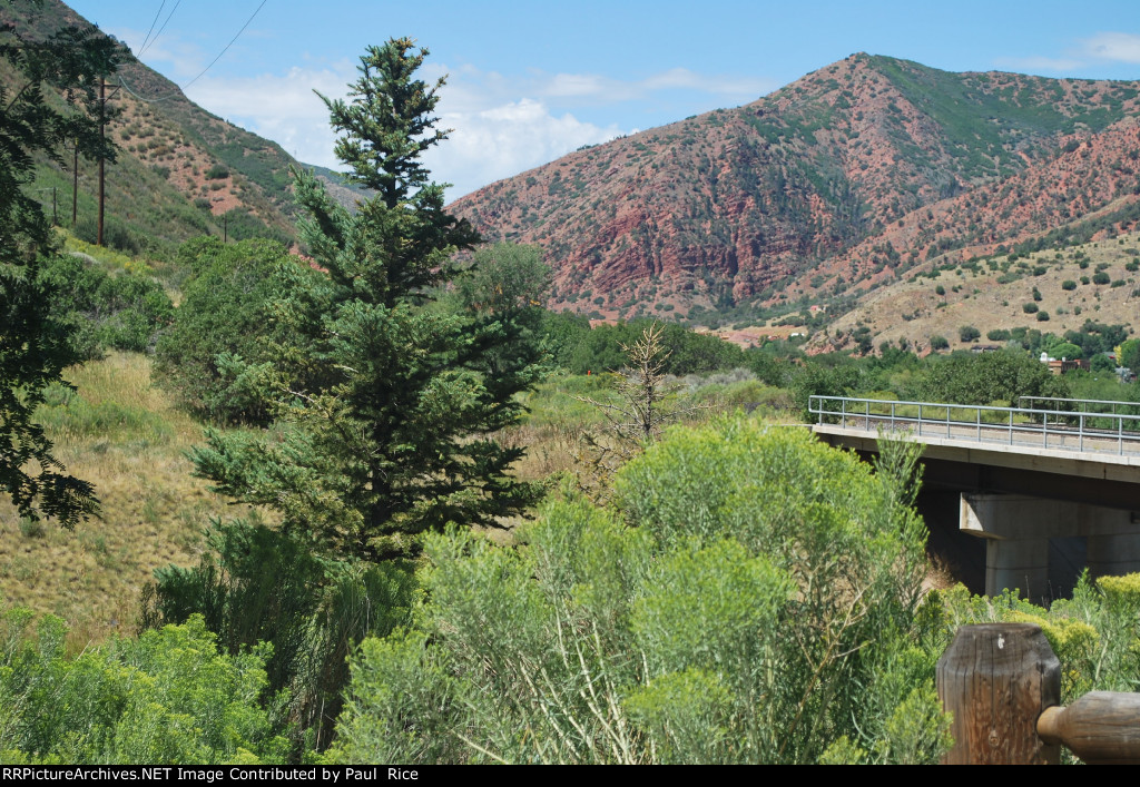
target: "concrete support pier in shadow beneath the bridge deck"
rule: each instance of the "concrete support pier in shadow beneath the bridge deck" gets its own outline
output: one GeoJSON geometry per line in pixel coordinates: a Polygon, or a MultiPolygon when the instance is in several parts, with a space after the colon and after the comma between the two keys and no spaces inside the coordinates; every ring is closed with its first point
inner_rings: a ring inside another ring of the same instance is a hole
{"type": "Polygon", "coordinates": [[[1074,555],[1092,576],[1140,571],[1140,527],[1132,513],[1084,503],[1011,494],[963,493],[959,528],[986,539],[986,595],[1017,589],[1021,598],[1048,600],[1053,555],[1065,557],[1074,537],[1084,555],[1074,555]]]}

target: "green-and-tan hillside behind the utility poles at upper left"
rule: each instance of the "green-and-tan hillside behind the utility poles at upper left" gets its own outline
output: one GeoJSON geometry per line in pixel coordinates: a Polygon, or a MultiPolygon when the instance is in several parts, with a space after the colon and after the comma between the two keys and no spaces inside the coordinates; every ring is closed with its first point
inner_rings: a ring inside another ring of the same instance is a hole
{"type": "MultiPolygon", "coordinates": [[[[0,22],[48,35],[90,23],[59,0],[0,6],[0,22]]],[[[0,73],[10,83],[11,74],[0,73]]],[[[119,144],[106,165],[105,235],[108,243],[139,251],[204,233],[230,237],[295,237],[288,168],[304,167],[268,139],[238,128],[189,100],[177,84],[132,56],[107,81],[108,108],[121,114],[107,127],[119,144]]],[[[51,97],[59,105],[62,97],[51,97]]],[[[59,224],[71,225],[72,156],[44,159],[36,189],[48,211],[56,193],[59,224]]],[[[97,164],[79,161],[76,234],[93,240],[97,164]]],[[[324,173],[340,192],[335,175],[324,173]]],[[[342,195],[343,196],[343,195],[342,195]]],[[[349,197],[343,197],[350,201],[349,197]]]]}

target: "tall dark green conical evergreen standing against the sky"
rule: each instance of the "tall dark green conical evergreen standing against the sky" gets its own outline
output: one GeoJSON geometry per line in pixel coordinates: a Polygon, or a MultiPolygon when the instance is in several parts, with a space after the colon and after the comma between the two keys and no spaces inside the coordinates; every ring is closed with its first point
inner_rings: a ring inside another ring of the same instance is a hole
{"type": "Polygon", "coordinates": [[[277,392],[283,425],[272,438],[211,433],[195,455],[217,489],[277,509],[286,528],[344,557],[406,555],[424,530],[494,526],[535,497],[508,476],[522,449],[494,439],[537,374],[495,363],[522,339],[513,308],[433,308],[454,254],[480,238],[443,210],[420,161],[446,139],[432,116],[443,81],[414,78],[426,55],[409,39],[370,48],[350,100],[321,97],[348,177],[375,196],[352,214],[294,173],[302,234],[327,275],[283,283],[275,335],[290,339],[253,370],[277,392]]]}

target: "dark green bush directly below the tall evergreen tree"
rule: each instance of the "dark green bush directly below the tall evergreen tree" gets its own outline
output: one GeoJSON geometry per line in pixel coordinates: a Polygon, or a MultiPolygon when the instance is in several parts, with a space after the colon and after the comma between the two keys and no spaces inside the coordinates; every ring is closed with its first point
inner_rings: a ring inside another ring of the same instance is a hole
{"type": "Polygon", "coordinates": [[[155,571],[157,583],[144,593],[144,625],[198,616],[235,658],[268,642],[268,691],[282,692],[310,745],[327,746],[349,654],[365,635],[407,623],[410,566],[318,558],[300,538],[255,519],[215,522],[206,541],[198,566],[155,571]]]}

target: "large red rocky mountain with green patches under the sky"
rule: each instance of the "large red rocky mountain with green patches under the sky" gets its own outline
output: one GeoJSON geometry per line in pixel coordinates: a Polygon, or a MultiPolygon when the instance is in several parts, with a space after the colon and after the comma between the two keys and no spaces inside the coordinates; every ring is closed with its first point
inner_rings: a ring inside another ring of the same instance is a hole
{"type": "Polygon", "coordinates": [[[492,240],[543,246],[555,306],[709,323],[839,314],[946,255],[1130,226],[1138,95],[1140,82],[958,74],[857,54],[752,104],[580,149],[453,210],[492,240]]]}

